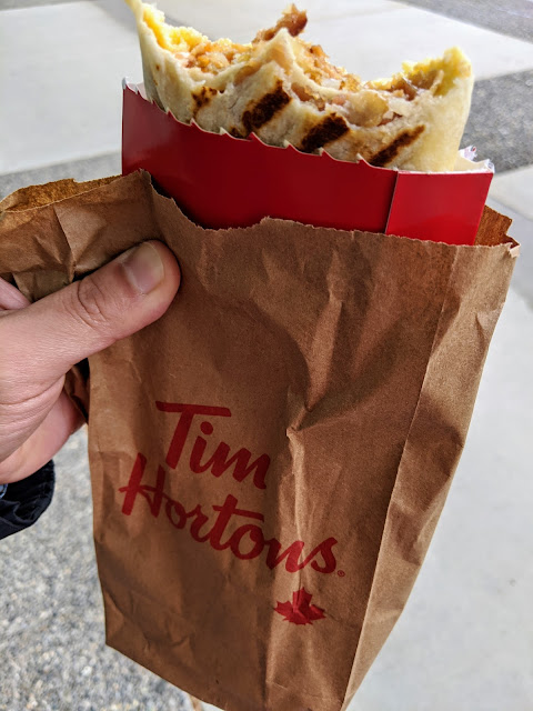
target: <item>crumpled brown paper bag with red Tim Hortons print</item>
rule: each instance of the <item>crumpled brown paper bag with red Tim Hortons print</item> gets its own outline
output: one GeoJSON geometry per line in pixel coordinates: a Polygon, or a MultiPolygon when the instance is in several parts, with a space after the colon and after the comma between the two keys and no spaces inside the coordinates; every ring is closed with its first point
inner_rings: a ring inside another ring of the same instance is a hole
{"type": "Polygon", "coordinates": [[[181,264],[165,316],[90,359],[108,643],[229,711],[345,709],[446,498],[509,220],[475,247],[203,230],[145,173],[91,188],[4,202],[0,274],[36,299],[149,238],[181,264]]]}

